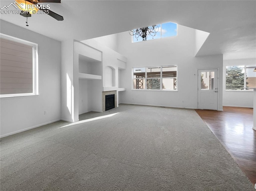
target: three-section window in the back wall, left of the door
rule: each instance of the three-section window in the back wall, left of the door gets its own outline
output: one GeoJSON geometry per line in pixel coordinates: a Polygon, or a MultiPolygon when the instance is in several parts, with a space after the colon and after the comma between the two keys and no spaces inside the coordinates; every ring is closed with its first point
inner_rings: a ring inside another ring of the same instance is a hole
{"type": "Polygon", "coordinates": [[[177,66],[136,67],[132,69],[134,90],[177,90],[177,66]]]}

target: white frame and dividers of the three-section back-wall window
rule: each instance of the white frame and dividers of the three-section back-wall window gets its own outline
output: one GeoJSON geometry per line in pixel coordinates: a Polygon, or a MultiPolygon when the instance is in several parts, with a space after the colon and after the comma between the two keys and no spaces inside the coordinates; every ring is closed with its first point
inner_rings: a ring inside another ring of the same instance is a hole
{"type": "Polygon", "coordinates": [[[178,65],[158,65],[158,66],[145,66],[145,67],[132,67],[132,90],[135,91],[178,91],[178,65]],[[148,67],[160,67],[160,77],[147,77],[147,68],[148,67]],[[162,77],[162,67],[176,67],[176,77],[162,77]],[[135,68],[145,68],[145,77],[144,78],[136,78],[134,77],[134,69],[135,68]],[[134,80],[143,79],[145,81],[145,89],[134,89],[134,80]],[[160,79],[160,89],[147,89],[147,79],[160,79]],[[176,79],[176,89],[162,89],[163,79],[176,79]]]}

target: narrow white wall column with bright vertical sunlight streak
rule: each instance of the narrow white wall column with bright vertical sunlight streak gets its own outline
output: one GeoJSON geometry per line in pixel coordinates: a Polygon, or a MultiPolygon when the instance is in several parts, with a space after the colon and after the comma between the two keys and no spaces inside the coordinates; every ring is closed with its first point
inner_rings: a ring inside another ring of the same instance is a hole
{"type": "Polygon", "coordinates": [[[74,40],[61,43],[61,119],[76,122],[74,118],[74,40]]]}

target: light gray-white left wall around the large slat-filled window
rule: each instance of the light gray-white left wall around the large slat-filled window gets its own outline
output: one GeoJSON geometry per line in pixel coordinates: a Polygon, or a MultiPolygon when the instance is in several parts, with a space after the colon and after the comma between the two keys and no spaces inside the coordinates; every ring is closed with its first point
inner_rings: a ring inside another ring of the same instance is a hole
{"type": "Polygon", "coordinates": [[[1,137],[60,120],[60,42],[3,20],[0,32],[37,43],[39,71],[39,95],[0,98],[1,137]]]}

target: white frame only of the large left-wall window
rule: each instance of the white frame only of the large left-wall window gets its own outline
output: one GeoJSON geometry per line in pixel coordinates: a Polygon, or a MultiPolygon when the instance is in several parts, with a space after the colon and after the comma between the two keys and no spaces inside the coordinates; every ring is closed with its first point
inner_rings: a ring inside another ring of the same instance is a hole
{"type": "Polygon", "coordinates": [[[17,94],[0,94],[0,98],[5,97],[20,97],[20,96],[33,96],[39,95],[38,91],[38,44],[33,43],[24,39],[20,39],[17,37],[13,37],[10,35],[6,35],[4,33],[0,33],[0,37],[3,39],[8,39],[10,41],[22,43],[24,45],[32,46],[32,76],[33,76],[33,92],[32,93],[17,93],[17,94]]]}

